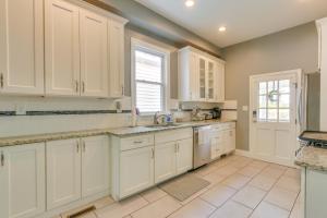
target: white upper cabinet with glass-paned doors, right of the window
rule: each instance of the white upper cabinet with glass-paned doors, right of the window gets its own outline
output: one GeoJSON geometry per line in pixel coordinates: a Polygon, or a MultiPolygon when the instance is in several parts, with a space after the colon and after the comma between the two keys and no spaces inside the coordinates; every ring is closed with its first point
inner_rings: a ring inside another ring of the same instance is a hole
{"type": "Polygon", "coordinates": [[[192,47],[179,51],[179,98],[182,101],[225,100],[225,62],[192,47]]]}

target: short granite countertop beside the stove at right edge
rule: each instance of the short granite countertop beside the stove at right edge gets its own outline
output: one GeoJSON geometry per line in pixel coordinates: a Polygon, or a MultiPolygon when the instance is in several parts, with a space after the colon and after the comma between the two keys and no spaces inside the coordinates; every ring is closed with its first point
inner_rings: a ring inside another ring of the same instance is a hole
{"type": "Polygon", "coordinates": [[[295,165],[312,170],[327,171],[327,149],[303,146],[296,154],[295,165]]]}

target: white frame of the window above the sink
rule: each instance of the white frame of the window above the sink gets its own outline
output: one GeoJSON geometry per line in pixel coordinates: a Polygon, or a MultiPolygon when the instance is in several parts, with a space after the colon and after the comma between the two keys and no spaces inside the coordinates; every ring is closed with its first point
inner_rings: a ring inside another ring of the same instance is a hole
{"type": "MultiPolygon", "coordinates": [[[[135,80],[135,51],[137,49],[149,51],[152,53],[158,53],[164,57],[164,75],[162,75],[162,84],[164,84],[164,95],[162,95],[162,110],[159,112],[166,112],[169,108],[169,99],[170,99],[170,50],[165,49],[162,47],[158,47],[156,45],[146,43],[141,39],[131,38],[131,94],[132,94],[132,106],[136,107],[136,80],[135,80]]],[[[141,116],[153,116],[155,112],[143,112],[141,116]]]]}

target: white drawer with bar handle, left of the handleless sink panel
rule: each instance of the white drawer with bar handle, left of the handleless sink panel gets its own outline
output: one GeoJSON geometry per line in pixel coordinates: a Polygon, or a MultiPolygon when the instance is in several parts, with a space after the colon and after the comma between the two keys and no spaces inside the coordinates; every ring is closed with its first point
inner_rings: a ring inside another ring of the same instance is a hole
{"type": "Polygon", "coordinates": [[[121,140],[120,150],[129,150],[138,147],[145,147],[154,144],[154,135],[138,135],[134,137],[125,137],[121,140]]]}

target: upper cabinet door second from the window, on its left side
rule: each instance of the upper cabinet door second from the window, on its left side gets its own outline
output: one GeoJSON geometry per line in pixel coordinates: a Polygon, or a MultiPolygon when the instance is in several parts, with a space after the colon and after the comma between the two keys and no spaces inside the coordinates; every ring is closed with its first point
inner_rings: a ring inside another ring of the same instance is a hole
{"type": "Polygon", "coordinates": [[[86,10],[81,10],[80,14],[81,95],[107,97],[107,19],[86,10]]]}

